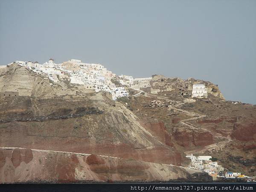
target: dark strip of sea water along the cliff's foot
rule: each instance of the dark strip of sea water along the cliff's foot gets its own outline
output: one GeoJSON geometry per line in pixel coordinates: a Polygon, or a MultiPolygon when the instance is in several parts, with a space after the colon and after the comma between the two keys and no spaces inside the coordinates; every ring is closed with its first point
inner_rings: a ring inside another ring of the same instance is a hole
{"type": "Polygon", "coordinates": [[[0,192],[139,192],[139,191],[240,191],[256,192],[256,183],[73,183],[73,184],[2,184],[0,192]]]}

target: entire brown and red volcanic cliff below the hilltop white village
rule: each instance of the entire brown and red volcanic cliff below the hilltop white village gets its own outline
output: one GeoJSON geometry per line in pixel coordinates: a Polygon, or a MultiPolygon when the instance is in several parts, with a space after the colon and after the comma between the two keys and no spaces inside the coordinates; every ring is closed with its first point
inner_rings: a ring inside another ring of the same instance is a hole
{"type": "Polygon", "coordinates": [[[212,83],[208,98],[183,103],[198,80],[154,76],[155,94],[113,105],[106,93],[50,86],[17,65],[0,73],[1,89],[20,95],[0,98],[0,182],[192,181],[198,171],[178,167],[192,153],[256,172],[256,106],[223,100],[212,83]]]}

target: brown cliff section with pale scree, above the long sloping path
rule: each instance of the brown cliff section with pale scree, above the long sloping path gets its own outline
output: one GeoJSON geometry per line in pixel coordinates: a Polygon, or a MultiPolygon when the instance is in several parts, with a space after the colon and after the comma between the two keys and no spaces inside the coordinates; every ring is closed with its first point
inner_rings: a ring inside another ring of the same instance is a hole
{"type": "Polygon", "coordinates": [[[141,126],[131,111],[122,105],[112,107],[103,97],[102,101],[95,101],[90,98],[32,99],[20,96],[2,100],[0,105],[0,121],[4,127],[1,144],[4,146],[50,147],[51,150],[64,147],[73,152],[180,163],[180,154],[141,126]],[[15,138],[17,135],[20,140],[15,138]],[[76,145],[72,145],[74,142],[76,145]],[[148,155],[148,152],[161,155],[148,155]]]}

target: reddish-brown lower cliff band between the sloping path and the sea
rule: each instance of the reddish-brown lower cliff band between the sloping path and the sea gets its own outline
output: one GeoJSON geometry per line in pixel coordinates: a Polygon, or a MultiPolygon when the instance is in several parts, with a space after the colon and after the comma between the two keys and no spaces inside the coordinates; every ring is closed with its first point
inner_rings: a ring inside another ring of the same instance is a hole
{"type": "MultiPolygon", "coordinates": [[[[74,183],[84,181],[168,181],[192,179],[197,172],[133,159],[31,149],[0,149],[3,183],[74,183]]],[[[195,181],[211,181],[202,174],[195,181]]]]}

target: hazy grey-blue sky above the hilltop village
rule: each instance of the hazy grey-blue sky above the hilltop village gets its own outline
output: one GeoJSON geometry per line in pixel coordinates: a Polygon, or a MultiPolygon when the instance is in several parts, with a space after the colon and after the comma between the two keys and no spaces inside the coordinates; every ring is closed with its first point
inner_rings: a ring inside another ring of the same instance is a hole
{"type": "Polygon", "coordinates": [[[256,0],[0,0],[0,65],[51,57],[204,79],[256,104],[256,0]]]}

